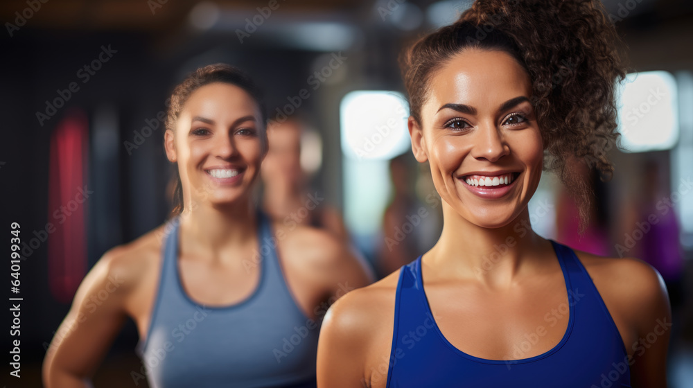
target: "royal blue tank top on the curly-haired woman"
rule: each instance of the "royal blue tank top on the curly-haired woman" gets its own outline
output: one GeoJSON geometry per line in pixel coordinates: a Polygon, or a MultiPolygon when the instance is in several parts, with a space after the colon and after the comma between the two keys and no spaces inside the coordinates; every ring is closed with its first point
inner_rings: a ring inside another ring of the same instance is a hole
{"type": "MultiPolygon", "coordinates": [[[[455,348],[433,319],[421,278],[421,256],[402,267],[397,285],[388,388],[403,387],[631,387],[629,359],[616,325],[592,279],[572,249],[552,241],[568,306],[547,315],[570,314],[568,329],[553,349],[522,358],[537,333],[518,344],[516,360],[486,360],[455,348]]],[[[534,342],[536,343],[536,342],[534,342]]],[[[511,352],[512,354],[512,352],[511,352]]]]}

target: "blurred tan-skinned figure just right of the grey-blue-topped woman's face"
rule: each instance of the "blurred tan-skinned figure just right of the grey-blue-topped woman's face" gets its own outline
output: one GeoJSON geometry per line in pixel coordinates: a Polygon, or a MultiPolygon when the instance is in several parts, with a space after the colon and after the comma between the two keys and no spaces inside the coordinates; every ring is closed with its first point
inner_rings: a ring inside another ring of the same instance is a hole
{"type": "Polygon", "coordinates": [[[309,177],[301,166],[303,128],[304,123],[295,116],[267,126],[270,150],[261,172],[263,211],[288,229],[315,227],[347,242],[349,233],[340,212],[324,203],[319,192],[308,189],[309,177]]]}

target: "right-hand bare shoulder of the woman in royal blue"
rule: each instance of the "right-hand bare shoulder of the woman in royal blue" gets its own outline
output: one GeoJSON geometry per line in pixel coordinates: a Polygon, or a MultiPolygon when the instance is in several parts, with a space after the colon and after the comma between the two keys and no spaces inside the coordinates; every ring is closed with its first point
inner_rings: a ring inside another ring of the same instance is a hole
{"type": "Polygon", "coordinates": [[[616,313],[625,321],[637,324],[669,310],[664,281],[651,265],[638,258],[575,253],[612,315],[616,313]]]}

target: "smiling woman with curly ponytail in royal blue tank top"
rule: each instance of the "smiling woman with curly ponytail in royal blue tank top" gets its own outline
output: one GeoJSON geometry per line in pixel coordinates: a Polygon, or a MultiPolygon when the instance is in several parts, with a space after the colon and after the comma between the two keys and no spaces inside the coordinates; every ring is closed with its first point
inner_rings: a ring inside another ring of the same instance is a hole
{"type": "Polygon", "coordinates": [[[406,51],[412,150],[444,228],[331,308],[319,387],[666,387],[656,270],[546,240],[527,209],[542,170],[581,209],[572,168],[613,173],[618,42],[598,0],[477,0],[406,51]]]}

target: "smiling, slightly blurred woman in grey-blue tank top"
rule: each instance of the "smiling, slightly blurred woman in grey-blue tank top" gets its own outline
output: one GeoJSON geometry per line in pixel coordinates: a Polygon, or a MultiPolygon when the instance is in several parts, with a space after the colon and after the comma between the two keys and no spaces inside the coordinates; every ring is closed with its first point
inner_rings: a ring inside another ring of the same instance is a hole
{"type": "Polygon", "coordinates": [[[90,386],[128,317],[151,387],[315,387],[322,315],[369,276],[331,234],[280,231],[254,206],[265,119],[261,91],[228,65],[175,88],[173,217],[87,274],[46,353],[46,387],[90,386]]]}

